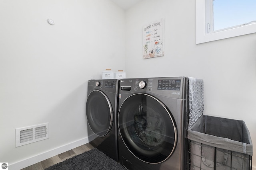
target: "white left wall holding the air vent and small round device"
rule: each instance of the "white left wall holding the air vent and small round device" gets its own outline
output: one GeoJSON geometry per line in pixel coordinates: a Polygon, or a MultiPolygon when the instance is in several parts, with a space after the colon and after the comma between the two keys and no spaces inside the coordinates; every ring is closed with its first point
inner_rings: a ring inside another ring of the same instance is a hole
{"type": "Polygon", "coordinates": [[[24,168],[88,142],[88,80],[124,69],[124,51],[125,12],[111,1],[0,0],[0,162],[24,168]],[[46,122],[49,139],[16,148],[16,128],[46,122]]]}

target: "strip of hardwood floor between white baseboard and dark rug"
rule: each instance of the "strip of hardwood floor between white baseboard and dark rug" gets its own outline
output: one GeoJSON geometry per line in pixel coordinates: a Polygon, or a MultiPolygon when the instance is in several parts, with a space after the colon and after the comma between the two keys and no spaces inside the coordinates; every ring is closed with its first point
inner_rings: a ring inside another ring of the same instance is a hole
{"type": "Polygon", "coordinates": [[[59,162],[62,162],[64,160],[67,160],[68,158],[71,158],[73,156],[76,156],[78,154],[81,154],[83,152],[86,152],[88,150],[93,149],[94,147],[87,143],[85,145],[82,145],[80,147],[68,150],[64,153],[58,154],[56,156],[53,156],[51,158],[48,158],[46,160],[43,160],[42,162],[38,162],[36,164],[33,164],[31,166],[28,166],[26,168],[23,168],[22,170],[44,170],[45,168],[48,168],[49,166],[52,166],[54,164],[57,164],[59,162]]]}

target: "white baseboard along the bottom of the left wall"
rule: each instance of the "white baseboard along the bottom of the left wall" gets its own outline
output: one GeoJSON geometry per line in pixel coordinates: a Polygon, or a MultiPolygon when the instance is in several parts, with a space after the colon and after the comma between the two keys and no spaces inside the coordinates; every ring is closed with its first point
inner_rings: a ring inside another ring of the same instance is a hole
{"type": "Polygon", "coordinates": [[[36,164],[38,162],[41,162],[41,161],[46,160],[48,158],[51,158],[52,156],[61,154],[63,152],[74,149],[74,148],[79,147],[81,145],[84,145],[86,143],[89,143],[89,137],[80,139],[78,141],[74,141],[72,143],[69,143],[67,145],[58,147],[56,149],[44,152],[42,154],[38,154],[38,155],[33,156],[31,158],[21,160],[19,162],[15,162],[13,164],[9,164],[9,170],[20,170],[22,168],[26,168],[30,165],[36,164]]]}

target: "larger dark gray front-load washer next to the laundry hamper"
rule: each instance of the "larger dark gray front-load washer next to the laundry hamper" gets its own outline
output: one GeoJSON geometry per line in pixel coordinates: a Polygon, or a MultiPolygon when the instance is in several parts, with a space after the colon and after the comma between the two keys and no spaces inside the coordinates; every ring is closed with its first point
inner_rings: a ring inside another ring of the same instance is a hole
{"type": "Polygon", "coordinates": [[[120,79],[119,155],[128,170],[186,170],[187,77],[120,79]]]}

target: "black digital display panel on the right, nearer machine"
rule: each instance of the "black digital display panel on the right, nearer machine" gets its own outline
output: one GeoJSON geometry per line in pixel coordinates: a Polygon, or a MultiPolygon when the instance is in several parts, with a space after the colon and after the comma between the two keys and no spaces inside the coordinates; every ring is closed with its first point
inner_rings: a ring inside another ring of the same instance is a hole
{"type": "Polygon", "coordinates": [[[180,90],[181,80],[158,80],[157,90],[180,90]]]}

